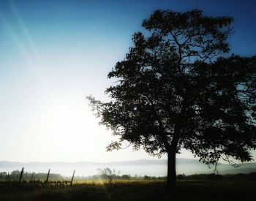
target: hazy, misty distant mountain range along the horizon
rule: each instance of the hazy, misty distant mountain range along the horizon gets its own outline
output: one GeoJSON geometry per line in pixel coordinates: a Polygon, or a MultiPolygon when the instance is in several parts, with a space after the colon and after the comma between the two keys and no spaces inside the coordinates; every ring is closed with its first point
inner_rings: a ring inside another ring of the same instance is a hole
{"type": "MultiPolygon", "coordinates": [[[[72,171],[76,170],[76,175],[96,175],[97,168],[109,167],[120,170],[121,175],[167,175],[167,160],[134,160],[124,162],[0,162],[0,172],[12,172],[12,170],[21,170],[24,167],[28,172],[50,172],[59,173],[64,176],[72,175],[72,171]]],[[[229,164],[218,165],[219,174],[238,174],[256,172],[256,163],[244,163],[238,168],[234,168],[229,164]]],[[[198,162],[197,159],[176,159],[177,174],[202,174],[213,173],[214,168],[209,168],[206,164],[198,162]]]]}

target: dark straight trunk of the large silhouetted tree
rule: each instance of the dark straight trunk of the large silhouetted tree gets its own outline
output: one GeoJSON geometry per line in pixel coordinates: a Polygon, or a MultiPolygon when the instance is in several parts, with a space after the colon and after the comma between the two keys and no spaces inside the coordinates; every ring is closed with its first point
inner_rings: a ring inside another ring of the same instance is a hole
{"type": "Polygon", "coordinates": [[[167,151],[167,191],[176,191],[176,148],[167,151]]]}

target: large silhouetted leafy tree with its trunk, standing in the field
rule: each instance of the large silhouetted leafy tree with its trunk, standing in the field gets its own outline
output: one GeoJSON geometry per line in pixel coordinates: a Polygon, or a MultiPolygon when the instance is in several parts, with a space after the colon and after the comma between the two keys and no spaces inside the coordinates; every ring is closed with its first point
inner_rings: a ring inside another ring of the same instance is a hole
{"type": "Polygon", "coordinates": [[[176,153],[185,148],[206,164],[250,161],[256,147],[255,57],[223,57],[233,19],[200,10],[157,10],[143,21],[134,47],[108,74],[110,102],[89,96],[101,124],[135,150],[167,153],[167,186],[176,185],[176,153]]]}

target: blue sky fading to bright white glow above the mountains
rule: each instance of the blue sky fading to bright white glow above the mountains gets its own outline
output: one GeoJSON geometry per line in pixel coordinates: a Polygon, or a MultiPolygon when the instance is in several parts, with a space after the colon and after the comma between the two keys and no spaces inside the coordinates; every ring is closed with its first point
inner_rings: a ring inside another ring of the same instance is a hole
{"type": "Polygon", "coordinates": [[[253,0],[0,1],[0,161],[156,159],[131,148],[106,152],[115,138],[86,96],[108,99],[108,72],[154,10],[194,8],[232,16],[231,53],[256,55],[253,0]]]}

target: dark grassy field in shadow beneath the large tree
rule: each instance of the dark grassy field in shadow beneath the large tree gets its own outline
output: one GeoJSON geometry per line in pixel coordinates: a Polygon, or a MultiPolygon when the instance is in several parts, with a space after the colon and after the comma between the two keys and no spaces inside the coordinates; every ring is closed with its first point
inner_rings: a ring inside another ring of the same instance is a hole
{"type": "Polygon", "coordinates": [[[176,197],[164,181],[0,183],[0,200],[255,200],[255,181],[178,181],[176,197]]]}

